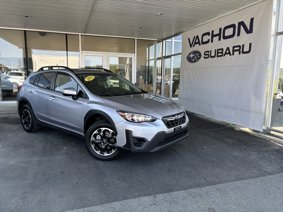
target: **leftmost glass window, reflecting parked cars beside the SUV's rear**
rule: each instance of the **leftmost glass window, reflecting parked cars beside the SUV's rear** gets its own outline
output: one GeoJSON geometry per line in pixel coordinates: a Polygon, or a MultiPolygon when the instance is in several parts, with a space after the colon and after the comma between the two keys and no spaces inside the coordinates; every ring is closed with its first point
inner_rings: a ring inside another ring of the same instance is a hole
{"type": "Polygon", "coordinates": [[[0,29],[0,101],[16,100],[17,85],[27,75],[25,57],[24,31],[0,29]]]}

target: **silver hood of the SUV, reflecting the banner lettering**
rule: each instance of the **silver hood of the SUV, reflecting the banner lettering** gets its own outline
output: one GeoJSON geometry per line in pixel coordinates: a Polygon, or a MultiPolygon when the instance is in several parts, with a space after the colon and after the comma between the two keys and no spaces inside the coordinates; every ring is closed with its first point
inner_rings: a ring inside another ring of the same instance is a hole
{"type": "Polygon", "coordinates": [[[182,107],[168,98],[153,93],[102,97],[102,99],[106,104],[117,109],[143,114],[182,107]]]}

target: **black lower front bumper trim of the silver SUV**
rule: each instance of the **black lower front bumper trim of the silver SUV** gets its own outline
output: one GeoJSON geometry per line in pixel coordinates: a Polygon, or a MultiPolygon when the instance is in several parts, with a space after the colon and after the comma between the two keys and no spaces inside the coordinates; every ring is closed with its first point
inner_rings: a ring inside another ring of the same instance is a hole
{"type": "Polygon", "coordinates": [[[189,124],[176,132],[158,132],[150,141],[144,137],[133,137],[131,131],[125,130],[126,144],[117,149],[121,152],[157,152],[188,137],[188,127],[189,124]],[[140,140],[140,145],[135,145],[136,140],[140,140]]]}

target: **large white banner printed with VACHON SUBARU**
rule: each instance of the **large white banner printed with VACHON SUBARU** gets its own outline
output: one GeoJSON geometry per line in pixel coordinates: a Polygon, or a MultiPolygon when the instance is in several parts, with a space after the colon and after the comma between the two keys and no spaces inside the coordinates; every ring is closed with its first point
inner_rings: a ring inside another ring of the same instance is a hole
{"type": "Polygon", "coordinates": [[[182,34],[179,102],[186,110],[263,130],[272,2],[182,34]]]}

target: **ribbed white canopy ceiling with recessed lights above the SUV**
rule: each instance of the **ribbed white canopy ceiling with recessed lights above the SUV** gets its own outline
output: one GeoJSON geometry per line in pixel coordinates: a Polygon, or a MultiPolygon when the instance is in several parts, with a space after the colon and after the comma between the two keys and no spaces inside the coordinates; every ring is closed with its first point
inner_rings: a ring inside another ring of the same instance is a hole
{"type": "Polygon", "coordinates": [[[0,27],[164,39],[260,1],[2,0],[0,27]]]}

